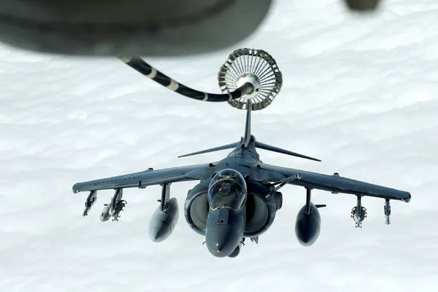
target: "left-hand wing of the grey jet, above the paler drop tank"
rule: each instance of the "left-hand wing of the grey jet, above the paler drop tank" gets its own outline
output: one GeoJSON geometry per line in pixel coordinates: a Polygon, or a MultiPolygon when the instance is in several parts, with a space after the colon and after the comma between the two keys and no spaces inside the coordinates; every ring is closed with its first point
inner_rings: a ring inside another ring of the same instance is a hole
{"type": "Polygon", "coordinates": [[[113,176],[111,178],[77,182],[73,185],[73,193],[117,188],[145,188],[146,186],[154,184],[201,180],[205,178],[205,175],[209,175],[213,169],[214,167],[212,167],[211,164],[189,165],[157,170],[147,169],[146,171],[113,176]]]}

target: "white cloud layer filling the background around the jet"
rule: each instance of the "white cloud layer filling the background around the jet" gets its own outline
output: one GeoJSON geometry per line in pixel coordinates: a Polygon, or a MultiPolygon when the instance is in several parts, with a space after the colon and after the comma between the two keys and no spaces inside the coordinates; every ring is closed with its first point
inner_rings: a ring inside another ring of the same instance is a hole
{"type": "Polygon", "coordinates": [[[186,99],[113,58],[49,56],[0,47],[0,290],[18,291],[422,291],[438,288],[438,3],[383,1],[374,16],[339,0],[275,1],[250,38],[204,56],[145,58],[199,90],[219,93],[217,71],[241,47],[268,51],[284,84],[252,116],[258,141],[322,160],[260,150],[263,162],[410,191],[409,204],[313,191],[315,245],[295,239],[304,188],[258,245],[215,258],[184,220],[195,182],[172,184],[180,219],[162,243],[149,219],[160,186],[125,190],[119,222],[99,221],[112,191],[82,217],[75,182],[149,167],[220,160],[228,151],[177,156],[239,141],[245,112],[186,99]],[[308,3],[309,2],[309,3],[308,3]],[[310,3],[311,2],[311,3],[310,3]]]}

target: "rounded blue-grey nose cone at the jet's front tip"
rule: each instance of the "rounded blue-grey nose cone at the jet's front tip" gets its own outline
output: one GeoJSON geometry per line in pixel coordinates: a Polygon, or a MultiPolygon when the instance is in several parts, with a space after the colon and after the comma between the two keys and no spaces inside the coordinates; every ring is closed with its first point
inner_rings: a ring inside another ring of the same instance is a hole
{"type": "Polygon", "coordinates": [[[206,231],[208,251],[217,258],[229,256],[239,245],[239,236],[230,226],[215,226],[206,231]]]}

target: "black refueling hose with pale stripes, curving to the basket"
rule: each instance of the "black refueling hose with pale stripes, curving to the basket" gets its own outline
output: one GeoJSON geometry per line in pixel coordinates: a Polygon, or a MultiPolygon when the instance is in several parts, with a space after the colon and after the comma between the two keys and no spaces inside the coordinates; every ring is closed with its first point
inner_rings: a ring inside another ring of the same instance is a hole
{"type": "Polygon", "coordinates": [[[202,100],[202,101],[231,101],[232,99],[238,99],[243,95],[247,95],[253,92],[254,86],[251,83],[247,82],[243,84],[243,86],[236,88],[230,93],[223,94],[215,94],[215,93],[204,93],[202,91],[198,91],[192,88],[189,88],[179,82],[176,82],[172,78],[167,75],[161,73],[153,66],[147,64],[143,59],[139,57],[120,57],[119,58],[125,64],[131,66],[136,69],[136,71],[142,73],[146,77],[149,77],[151,80],[154,80],[158,84],[169,88],[170,90],[175,91],[175,93],[179,93],[180,95],[184,95],[186,97],[190,97],[192,99],[202,100]]]}

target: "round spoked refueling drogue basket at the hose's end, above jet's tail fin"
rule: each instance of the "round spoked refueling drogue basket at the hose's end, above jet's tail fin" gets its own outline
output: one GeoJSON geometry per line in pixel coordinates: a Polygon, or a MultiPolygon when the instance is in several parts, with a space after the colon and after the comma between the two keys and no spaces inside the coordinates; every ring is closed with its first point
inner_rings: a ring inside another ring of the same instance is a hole
{"type": "Polygon", "coordinates": [[[217,76],[223,93],[231,93],[243,84],[254,87],[252,93],[228,101],[233,108],[263,110],[278,95],[283,84],[282,73],[269,53],[260,49],[236,49],[221,66],[217,76]]]}

